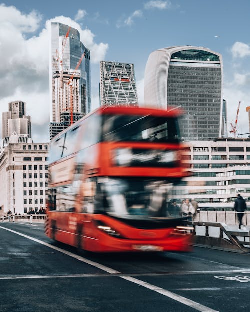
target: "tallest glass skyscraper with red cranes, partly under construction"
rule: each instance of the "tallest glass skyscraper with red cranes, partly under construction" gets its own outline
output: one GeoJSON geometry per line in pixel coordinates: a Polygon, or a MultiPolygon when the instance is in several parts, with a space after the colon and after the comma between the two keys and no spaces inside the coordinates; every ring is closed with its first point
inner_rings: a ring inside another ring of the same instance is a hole
{"type": "Polygon", "coordinates": [[[50,99],[52,123],[63,122],[61,113],[71,109],[69,79],[75,114],[91,111],[90,51],[80,41],[78,30],[57,22],[51,23],[50,99]],[[78,70],[75,68],[81,59],[78,70]]]}

